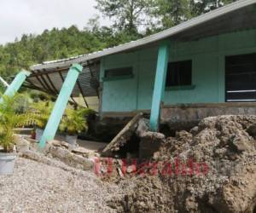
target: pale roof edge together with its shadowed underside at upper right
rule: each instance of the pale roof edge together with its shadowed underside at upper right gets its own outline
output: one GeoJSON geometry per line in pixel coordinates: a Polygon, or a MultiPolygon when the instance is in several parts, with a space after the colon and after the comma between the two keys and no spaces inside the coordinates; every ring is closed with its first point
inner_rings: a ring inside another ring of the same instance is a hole
{"type": "Polygon", "coordinates": [[[99,60],[106,55],[113,55],[119,52],[131,51],[131,49],[142,48],[150,43],[159,43],[161,40],[170,38],[173,40],[191,40],[201,37],[212,36],[224,32],[232,32],[247,28],[256,27],[256,0],[240,0],[235,3],[215,9],[207,14],[202,14],[194,19],[183,22],[166,31],[143,37],[131,43],[121,44],[117,47],[104,49],[89,55],[47,61],[43,64],[34,65],[32,70],[42,70],[70,66],[73,63],[84,64],[89,60],[99,60]]]}

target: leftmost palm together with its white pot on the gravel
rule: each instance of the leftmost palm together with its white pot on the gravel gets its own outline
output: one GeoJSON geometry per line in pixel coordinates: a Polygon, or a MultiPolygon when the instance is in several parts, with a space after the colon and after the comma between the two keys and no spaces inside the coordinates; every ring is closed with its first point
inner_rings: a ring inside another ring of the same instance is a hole
{"type": "Polygon", "coordinates": [[[0,103],[0,175],[10,175],[15,166],[15,131],[16,127],[24,126],[30,116],[26,112],[19,112],[20,98],[3,96],[0,103]]]}

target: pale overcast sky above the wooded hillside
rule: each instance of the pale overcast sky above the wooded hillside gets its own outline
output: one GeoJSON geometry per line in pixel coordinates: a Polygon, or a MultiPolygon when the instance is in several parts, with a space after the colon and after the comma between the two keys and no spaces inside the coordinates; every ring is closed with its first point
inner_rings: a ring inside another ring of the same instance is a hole
{"type": "MultiPolygon", "coordinates": [[[[99,14],[95,0],[0,0],[0,5],[1,44],[53,27],[76,25],[83,29],[90,18],[99,14]]],[[[101,18],[102,25],[109,23],[101,18]]]]}

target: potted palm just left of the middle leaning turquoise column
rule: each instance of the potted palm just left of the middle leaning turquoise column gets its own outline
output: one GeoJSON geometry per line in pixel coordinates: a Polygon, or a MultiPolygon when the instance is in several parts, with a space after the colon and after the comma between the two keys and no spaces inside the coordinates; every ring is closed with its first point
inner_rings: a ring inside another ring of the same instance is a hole
{"type": "Polygon", "coordinates": [[[50,113],[54,107],[52,101],[38,101],[32,104],[31,112],[33,114],[33,123],[35,124],[35,139],[40,141],[44,128],[48,122],[50,113]]]}

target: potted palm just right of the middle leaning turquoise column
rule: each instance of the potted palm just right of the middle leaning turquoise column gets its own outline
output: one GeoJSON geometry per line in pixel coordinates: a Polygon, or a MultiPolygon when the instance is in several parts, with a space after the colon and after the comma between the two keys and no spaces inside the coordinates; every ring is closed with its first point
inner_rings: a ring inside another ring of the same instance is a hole
{"type": "Polygon", "coordinates": [[[87,116],[92,111],[89,108],[67,108],[60,124],[61,132],[66,133],[66,141],[72,146],[77,145],[78,135],[82,131],[87,131],[87,116]]]}

